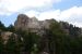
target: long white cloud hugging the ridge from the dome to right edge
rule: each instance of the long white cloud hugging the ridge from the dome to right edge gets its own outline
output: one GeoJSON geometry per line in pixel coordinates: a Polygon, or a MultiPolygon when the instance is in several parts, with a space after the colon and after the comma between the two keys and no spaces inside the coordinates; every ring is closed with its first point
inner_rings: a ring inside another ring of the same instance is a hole
{"type": "Polygon", "coordinates": [[[73,6],[68,10],[49,10],[45,12],[30,11],[25,14],[36,16],[38,19],[50,19],[69,22],[70,24],[82,27],[82,6],[73,6]]]}

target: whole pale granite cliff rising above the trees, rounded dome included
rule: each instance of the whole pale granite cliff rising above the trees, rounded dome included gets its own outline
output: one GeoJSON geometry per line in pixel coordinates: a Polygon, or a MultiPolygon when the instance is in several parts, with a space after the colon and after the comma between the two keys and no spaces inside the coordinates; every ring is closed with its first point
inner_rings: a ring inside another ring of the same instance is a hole
{"type": "Polygon", "coordinates": [[[17,21],[14,23],[15,29],[31,30],[33,32],[44,32],[44,28],[49,28],[49,19],[38,21],[36,17],[28,17],[24,14],[17,16],[17,21]]]}

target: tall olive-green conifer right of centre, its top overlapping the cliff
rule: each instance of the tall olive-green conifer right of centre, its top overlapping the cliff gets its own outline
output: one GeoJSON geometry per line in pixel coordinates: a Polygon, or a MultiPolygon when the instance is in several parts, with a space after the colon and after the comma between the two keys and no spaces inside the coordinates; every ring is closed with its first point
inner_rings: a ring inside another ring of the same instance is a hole
{"type": "Polygon", "coordinates": [[[63,45],[66,32],[61,29],[58,22],[50,24],[50,29],[46,31],[48,38],[48,49],[50,54],[60,54],[63,45]]]}

